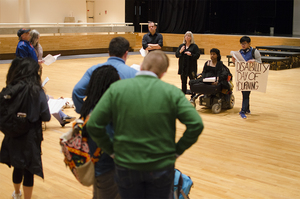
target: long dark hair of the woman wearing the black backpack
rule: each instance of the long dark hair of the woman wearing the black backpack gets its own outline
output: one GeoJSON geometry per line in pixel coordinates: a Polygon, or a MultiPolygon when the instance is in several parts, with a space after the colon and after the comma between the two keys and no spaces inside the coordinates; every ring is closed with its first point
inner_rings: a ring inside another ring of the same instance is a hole
{"type": "Polygon", "coordinates": [[[7,85],[24,81],[29,86],[32,96],[39,94],[42,89],[40,65],[32,58],[15,58],[6,78],[7,85]]]}

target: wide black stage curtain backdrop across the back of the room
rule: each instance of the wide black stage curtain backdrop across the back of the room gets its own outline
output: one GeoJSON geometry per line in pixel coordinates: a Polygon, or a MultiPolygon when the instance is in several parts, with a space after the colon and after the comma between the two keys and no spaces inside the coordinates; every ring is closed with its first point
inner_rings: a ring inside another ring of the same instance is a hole
{"type": "MultiPolygon", "coordinates": [[[[126,22],[154,21],[160,33],[292,34],[293,0],[125,0],[126,22]],[[139,12],[136,9],[139,9],[139,12]]],[[[144,26],[147,31],[147,27],[144,26]]]]}

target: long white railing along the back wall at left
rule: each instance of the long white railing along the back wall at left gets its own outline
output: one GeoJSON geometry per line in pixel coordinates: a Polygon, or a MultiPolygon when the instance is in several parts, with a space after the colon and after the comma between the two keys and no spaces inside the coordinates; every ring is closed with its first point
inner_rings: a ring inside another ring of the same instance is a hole
{"type": "Polygon", "coordinates": [[[20,28],[40,33],[134,32],[133,23],[0,23],[0,35],[16,34],[20,28]]]}

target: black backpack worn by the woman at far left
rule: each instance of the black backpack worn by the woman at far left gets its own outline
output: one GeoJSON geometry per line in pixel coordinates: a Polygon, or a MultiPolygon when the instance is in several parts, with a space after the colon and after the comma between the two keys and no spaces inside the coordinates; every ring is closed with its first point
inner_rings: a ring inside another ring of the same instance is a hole
{"type": "Polygon", "coordinates": [[[23,81],[8,85],[0,93],[0,130],[11,137],[19,137],[29,131],[29,87],[23,81]]]}

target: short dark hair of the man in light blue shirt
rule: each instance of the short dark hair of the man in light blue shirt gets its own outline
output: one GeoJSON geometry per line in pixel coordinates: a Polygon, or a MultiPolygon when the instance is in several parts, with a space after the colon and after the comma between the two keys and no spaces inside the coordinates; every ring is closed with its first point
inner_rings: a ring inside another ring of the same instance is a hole
{"type": "Polygon", "coordinates": [[[109,56],[123,57],[129,49],[129,41],[124,37],[113,38],[108,47],[109,56]]]}

